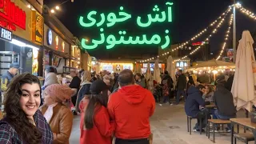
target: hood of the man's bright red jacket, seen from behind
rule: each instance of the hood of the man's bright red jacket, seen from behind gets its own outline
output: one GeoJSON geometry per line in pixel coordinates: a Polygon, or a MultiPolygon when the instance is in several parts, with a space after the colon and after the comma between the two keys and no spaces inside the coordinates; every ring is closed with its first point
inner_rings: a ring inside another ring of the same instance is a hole
{"type": "Polygon", "coordinates": [[[146,90],[142,86],[123,86],[118,92],[121,94],[122,98],[129,102],[130,104],[141,103],[146,97],[146,90]]]}

